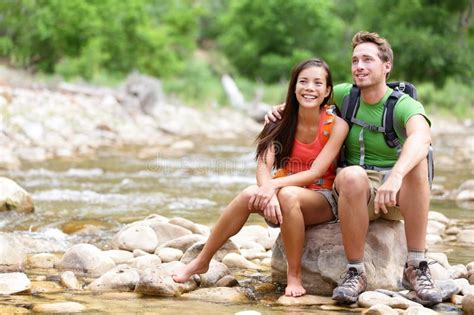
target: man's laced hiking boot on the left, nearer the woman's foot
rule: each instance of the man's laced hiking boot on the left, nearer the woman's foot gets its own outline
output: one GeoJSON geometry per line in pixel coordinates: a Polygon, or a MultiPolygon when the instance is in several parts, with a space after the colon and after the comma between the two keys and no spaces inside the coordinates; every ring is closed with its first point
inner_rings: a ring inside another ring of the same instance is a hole
{"type": "Polygon", "coordinates": [[[367,288],[367,276],[365,272],[358,272],[356,268],[350,267],[344,275],[342,283],[334,289],[332,299],[338,303],[352,304],[357,301],[359,294],[367,288]]]}

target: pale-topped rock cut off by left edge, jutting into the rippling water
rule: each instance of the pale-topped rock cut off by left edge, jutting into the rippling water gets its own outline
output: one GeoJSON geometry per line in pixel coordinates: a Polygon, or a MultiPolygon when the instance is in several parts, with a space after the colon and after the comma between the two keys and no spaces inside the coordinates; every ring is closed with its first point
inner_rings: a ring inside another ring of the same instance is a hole
{"type": "Polygon", "coordinates": [[[7,210],[31,213],[34,211],[33,198],[13,180],[0,177],[0,211],[7,210]]]}

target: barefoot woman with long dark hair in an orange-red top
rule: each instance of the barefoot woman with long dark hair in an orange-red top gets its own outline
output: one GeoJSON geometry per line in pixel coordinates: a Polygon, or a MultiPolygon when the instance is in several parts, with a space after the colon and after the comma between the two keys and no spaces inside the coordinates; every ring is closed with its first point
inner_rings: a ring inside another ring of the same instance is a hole
{"type": "Polygon", "coordinates": [[[173,272],[174,281],[205,273],[217,250],[240,231],[250,213],[258,213],[281,228],[288,261],[285,295],[306,293],[301,280],[305,226],[337,220],[331,188],[348,126],[324,106],[332,86],[322,60],[306,60],[293,69],[289,106],[280,121],[267,124],[257,137],[257,185],[247,187],[225,208],[201,253],[173,272]],[[274,168],[279,171],[272,178],[274,168]]]}

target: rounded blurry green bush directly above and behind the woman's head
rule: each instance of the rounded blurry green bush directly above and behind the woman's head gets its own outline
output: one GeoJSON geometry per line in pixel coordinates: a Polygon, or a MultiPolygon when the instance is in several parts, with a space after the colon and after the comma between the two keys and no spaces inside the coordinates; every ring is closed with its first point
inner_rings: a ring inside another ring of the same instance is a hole
{"type": "Polygon", "coordinates": [[[302,58],[336,60],[341,23],[322,0],[232,0],[220,17],[219,46],[239,73],[275,82],[302,58]]]}

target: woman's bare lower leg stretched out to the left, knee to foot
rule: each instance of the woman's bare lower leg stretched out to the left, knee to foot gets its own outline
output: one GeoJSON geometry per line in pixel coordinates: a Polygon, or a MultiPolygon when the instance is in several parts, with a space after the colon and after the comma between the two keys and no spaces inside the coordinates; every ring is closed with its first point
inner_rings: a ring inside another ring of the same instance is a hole
{"type": "Polygon", "coordinates": [[[235,197],[224,209],[211,231],[201,253],[189,264],[172,272],[175,282],[186,282],[193,274],[205,273],[209,269],[214,254],[233,235],[237,234],[247,222],[250,212],[248,202],[258,186],[249,186],[235,197]]]}

